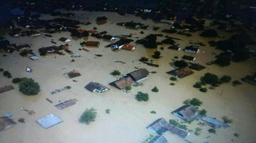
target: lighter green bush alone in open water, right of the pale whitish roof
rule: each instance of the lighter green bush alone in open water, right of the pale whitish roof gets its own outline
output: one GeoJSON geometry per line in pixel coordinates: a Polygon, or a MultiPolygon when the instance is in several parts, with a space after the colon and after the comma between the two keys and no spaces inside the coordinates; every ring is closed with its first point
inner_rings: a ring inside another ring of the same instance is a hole
{"type": "Polygon", "coordinates": [[[79,123],[86,123],[90,124],[91,122],[94,122],[97,117],[97,112],[96,109],[91,108],[91,109],[86,109],[83,111],[82,115],[79,118],[79,123]]]}

